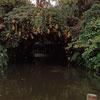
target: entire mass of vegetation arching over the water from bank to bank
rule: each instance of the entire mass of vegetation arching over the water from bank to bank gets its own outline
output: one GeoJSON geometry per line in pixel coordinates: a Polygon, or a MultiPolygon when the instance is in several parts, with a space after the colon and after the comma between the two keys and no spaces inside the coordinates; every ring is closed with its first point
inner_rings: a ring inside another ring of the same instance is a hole
{"type": "MultiPolygon", "coordinates": [[[[46,8],[27,0],[0,2],[0,67],[23,42],[27,45],[48,39],[63,44],[66,62],[100,70],[100,1],[59,0],[46,8]]],[[[26,45],[26,46],[27,46],[26,45]]]]}

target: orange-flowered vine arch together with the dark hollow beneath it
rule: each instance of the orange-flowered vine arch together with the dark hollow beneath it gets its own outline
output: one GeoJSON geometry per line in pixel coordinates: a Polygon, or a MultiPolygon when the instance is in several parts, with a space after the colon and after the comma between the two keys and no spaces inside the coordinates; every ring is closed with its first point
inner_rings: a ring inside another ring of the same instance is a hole
{"type": "Polygon", "coordinates": [[[56,9],[16,8],[5,16],[1,43],[5,43],[12,59],[29,60],[36,57],[36,53],[39,57],[61,58],[64,55],[62,48],[71,38],[70,28],[62,19],[60,10],[56,9]]]}

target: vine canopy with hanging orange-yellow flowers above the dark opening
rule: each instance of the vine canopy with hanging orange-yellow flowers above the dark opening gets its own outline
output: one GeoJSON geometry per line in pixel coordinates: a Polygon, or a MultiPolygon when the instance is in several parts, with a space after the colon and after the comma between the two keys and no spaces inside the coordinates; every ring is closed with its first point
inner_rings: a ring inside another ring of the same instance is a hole
{"type": "Polygon", "coordinates": [[[21,6],[5,14],[4,25],[0,37],[6,47],[16,47],[23,39],[34,41],[34,37],[54,35],[55,38],[66,40],[71,36],[61,11],[55,8],[21,6]]]}

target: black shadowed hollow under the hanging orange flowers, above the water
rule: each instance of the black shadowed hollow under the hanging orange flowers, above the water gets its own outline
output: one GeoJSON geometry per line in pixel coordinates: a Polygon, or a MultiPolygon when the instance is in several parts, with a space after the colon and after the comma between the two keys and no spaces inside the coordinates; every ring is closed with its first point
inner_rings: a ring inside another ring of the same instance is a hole
{"type": "Polygon", "coordinates": [[[62,44],[38,44],[24,42],[8,50],[9,63],[65,62],[66,54],[62,44]]]}

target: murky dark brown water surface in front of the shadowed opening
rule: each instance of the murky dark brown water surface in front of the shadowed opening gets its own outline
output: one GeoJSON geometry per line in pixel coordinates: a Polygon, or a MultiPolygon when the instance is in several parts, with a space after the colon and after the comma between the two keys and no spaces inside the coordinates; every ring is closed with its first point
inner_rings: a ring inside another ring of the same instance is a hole
{"type": "Polygon", "coordinates": [[[62,64],[13,64],[0,77],[0,100],[86,100],[100,97],[100,77],[62,64]]]}

